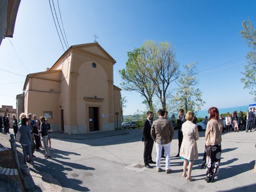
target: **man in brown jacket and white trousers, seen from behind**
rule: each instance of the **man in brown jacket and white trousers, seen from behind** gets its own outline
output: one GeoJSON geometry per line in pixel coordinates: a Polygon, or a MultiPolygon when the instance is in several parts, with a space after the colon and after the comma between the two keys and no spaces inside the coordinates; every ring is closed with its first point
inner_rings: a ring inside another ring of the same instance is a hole
{"type": "Polygon", "coordinates": [[[166,173],[170,173],[170,147],[171,141],[174,136],[174,128],[172,123],[164,118],[164,110],[158,110],[158,119],[155,120],[151,127],[151,136],[156,142],[156,168],[157,171],[161,171],[160,160],[161,152],[164,147],[165,170],[166,173]]]}

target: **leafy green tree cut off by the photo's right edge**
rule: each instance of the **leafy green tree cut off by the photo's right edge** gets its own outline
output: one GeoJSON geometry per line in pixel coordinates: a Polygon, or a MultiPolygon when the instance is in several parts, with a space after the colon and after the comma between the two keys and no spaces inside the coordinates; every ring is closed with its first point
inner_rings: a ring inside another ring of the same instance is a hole
{"type": "Polygon", "coordinates": [[[250,18],[247,21],[244,20],[242,26],[244,30],[240,33],[245,38],[248,47],[252,48],[252,51],[246,55],[248,64],[244,66],[244,72],[241,72],[244,75],[244,78],[241,78],[241,82],[244,83],[244,88],[250,89],[250,94],[255,96],[254,100],[256,101],[256,30],[250,18]]]}

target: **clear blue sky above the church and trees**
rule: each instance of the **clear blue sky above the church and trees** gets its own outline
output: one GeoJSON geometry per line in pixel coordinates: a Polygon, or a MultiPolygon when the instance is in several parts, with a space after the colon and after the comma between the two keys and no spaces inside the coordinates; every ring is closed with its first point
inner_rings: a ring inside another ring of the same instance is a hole
{"type": "MultiPolygon", "coordinates": [[[[58,12],[56,0],[54,4],[58,12]]],[[[206,101],[202,109],[254,103],[240,82],[250,48],[239,32],[248,16],[256,26],[256,1],[59,0],[59,5],[70,46],[93,42],[97,34],[99,44],[117,61],[116,86],[120,86],[118,70],[125,68],[128,51],[140,47],[144,40],[167,40],[176,51],[181,71],[194,61],[198,72],[210,70],[198,75],[198,88],[206,101]]],[[[47,0],[22,0],[14,38],[8,39],[0,46],[0,68],[24,76],[51,67],[64,52],[47,0]]],[[[2,70],[0,76],[0,105],[16,108],[15,98],[22,93],[25,77],[2,70]]],[[[128,99],[125,115],[145,109],[136,92],[122,91],[122,95],[128,99]]]]}

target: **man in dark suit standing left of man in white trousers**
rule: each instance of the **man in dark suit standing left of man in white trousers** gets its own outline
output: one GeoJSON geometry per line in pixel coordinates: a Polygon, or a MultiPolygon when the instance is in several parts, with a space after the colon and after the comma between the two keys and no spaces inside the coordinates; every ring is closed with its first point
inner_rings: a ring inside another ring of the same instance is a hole
{"type": "Polygon", "coordinates": [[[156,163],[152,161],[152,149],[154,145],[154,140],[151,136],[151,126],[152,126],[153,113],[151,111],[147,112],[147,119],[142,126],[142,142],[144,142],[144,164],[146,168],[152,168],[150,163],[156,163]]]}

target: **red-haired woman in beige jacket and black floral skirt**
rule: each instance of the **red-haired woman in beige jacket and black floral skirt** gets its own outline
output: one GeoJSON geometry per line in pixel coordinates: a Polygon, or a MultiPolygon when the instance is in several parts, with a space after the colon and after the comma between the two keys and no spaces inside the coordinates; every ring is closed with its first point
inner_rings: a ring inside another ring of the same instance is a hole
{"type": "Polygon", "coordinates": [[[202,168],[206,167],[206,182],[213,182],[218,173],[221,157],[221,134],[222,125],[218,120],[219,111],[216,107],[208,110],[209,121],[205,131],[205,150],[202,168]]]}

